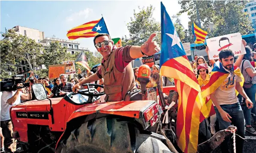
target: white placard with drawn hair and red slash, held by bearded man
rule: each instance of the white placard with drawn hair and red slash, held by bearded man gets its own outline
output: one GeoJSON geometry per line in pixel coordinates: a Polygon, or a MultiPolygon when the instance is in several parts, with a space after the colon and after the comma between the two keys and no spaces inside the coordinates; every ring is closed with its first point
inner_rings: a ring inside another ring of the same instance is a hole
{"type": "Polygon", "coordinates": [[[230,49],[235,56],[245,54],[241,33],[232,33],[214,38],[206,39],[209,47],[209,59],[219,59],[219,53],[223,49],[230,49]]]}

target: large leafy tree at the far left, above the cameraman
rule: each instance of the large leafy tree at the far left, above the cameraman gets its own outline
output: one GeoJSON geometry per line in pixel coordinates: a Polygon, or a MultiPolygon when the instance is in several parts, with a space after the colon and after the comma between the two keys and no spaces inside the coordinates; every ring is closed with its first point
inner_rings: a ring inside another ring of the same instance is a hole
{"type": "Polygon", "coordinates": [[[30,69],[38,66],[43,58],[40,54],[42,45],[35,40],[24,35],[18,35],[14,30],[9,29],[2,35],[1,45],[1,78],[10,77],[17,74],[17,66],[4,64],[20,65],[21,61],[26,61],[30,69]],[[9,72],[12,74],[9,75],[9,72]]]}

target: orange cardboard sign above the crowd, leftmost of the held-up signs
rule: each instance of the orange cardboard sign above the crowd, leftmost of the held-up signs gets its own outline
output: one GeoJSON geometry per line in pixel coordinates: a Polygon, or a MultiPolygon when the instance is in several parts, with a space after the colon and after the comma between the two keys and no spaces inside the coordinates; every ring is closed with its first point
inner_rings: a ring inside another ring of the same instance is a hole
{"type": "Polygon", "coordinates": [[[49,65],[48,77],[49,80],[53,81],[55,78],[60,77],[60,74],[66,73],[66,64],[60,65],[49,65]]]}

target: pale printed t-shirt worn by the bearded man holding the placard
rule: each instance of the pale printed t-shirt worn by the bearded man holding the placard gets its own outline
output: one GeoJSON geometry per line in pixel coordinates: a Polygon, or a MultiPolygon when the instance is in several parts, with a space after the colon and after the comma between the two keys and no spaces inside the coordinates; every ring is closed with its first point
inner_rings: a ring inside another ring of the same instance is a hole
{"type": "Polygon", "coordinates": [[[215,96],[220,105],[230,105],[238,102],[238,98],[235,94],[235,84],[241,81],[241,77],[231,74],[231,76],[226,78],[219,88],[216,89],[215,96]]]}

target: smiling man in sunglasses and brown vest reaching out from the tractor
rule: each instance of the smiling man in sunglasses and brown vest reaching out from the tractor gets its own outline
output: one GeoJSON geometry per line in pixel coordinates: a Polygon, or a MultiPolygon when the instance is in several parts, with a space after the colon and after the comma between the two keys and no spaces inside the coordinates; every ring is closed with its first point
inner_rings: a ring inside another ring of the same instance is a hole
{"type": "Polygon", "coordinates": [[[141,46],[125,46],[117,48],[114,46],[110,35],[99,34],[93,39],[93,43],[103,59],[101,68],[96,74],[89,76],[78,84],[74,85],[73,92],[81,89],[81,85],[104,79],[105,101],[124,100],[127,92],[136,89],[135,79],[131,61],[143,56],[151,56],[160,51],[156,41],[151,34],[148,40],[141,46]]]}

